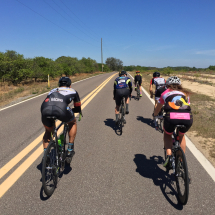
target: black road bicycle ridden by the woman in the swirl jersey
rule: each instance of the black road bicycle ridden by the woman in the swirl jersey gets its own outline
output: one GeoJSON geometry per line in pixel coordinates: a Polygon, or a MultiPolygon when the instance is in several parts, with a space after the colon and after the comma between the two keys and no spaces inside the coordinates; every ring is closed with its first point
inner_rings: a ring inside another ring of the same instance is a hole
{"type": "MultiPolygon", "coordinates": [[[[169,164],[167,165],[167,171],[172,170],[176,180],[176,187],[178,192],[178,200],[182,205],[186,205],[189,196],[189,175],[188,166],[185,154],[180,147],[179,143],[179,128],[185,127],[184,125],[176,125],[176,131],[173,133],[173,146],[172,155],[170,157],[169,164]]],[[[164,157],[166,160],[166,149],[164,148],[164,157]]]]}

